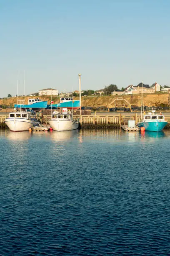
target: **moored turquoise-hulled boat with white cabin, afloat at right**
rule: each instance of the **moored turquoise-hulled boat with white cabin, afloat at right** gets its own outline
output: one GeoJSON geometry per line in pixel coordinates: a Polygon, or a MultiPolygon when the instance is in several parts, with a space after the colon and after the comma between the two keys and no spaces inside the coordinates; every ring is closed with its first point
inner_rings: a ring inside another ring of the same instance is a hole
{"type": "Polygon", "coordinates": [[[138,123],[138,127],[145,127],[145,131],[155,131],[159,132],[162,131],[165,125],[168,122],[165,121],[165,116],[162,114],[156,114],[155,110],[152,113],[148,113],[143,115],[143,121],[138,123]]]}

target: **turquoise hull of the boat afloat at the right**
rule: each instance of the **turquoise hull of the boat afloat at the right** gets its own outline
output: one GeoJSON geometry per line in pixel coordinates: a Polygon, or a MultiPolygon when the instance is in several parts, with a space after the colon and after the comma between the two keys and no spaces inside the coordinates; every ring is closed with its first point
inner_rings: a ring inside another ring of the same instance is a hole
{"type": "Polygon", "coordinates": [[[145,127],[145,131],[159,132],[162,131],[167,124],[168,122],[157,120],[153,122],[140,122],[138,127],[145,127]]]}

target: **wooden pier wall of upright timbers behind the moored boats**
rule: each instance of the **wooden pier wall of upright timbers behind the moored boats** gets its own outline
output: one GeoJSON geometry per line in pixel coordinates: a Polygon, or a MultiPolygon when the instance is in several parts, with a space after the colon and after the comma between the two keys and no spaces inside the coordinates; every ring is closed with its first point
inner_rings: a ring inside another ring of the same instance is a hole
{"type": "MultiPolygon", "coordinates": [[[[5,118],[8,115],[0,115],[0,128],[5,128],[5,118]]],[[[48,121],[51,115],[38,115],[38,121],[49,125],[48,121]]],[[[131,115],[119,113],[117,115],[74,115],[74,120],[79,121],[81,128],[114,128],[121,125],[127,125],[128,120],[135,120],[135,123],[141,121],[140,113],[133,113],[131,115]]],[[[166,128],[170,128],[170,113],[165,115],[165,121],[169,122],[166,128]]]]}

